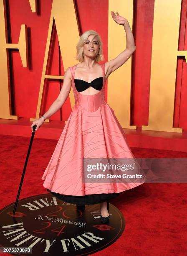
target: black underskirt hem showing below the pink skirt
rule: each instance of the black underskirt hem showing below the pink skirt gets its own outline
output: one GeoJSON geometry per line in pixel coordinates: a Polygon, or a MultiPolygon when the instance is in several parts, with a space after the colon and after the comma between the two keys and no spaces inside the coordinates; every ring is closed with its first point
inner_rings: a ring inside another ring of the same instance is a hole
{"type": "Polygon", "coordinates": [[[93,205],[99,204],[101,202],[109,201],[117,196],[120,193],[111,193],[111,194],[93,194],[93,195],[84,195],[84,196],[74,196],[74,195],[62,195],[56,192],[52,192],[50,189],[47,189],[48,192],[56,196],[58,199],[63,200],[68,203],[76,205],[93,205]]]}

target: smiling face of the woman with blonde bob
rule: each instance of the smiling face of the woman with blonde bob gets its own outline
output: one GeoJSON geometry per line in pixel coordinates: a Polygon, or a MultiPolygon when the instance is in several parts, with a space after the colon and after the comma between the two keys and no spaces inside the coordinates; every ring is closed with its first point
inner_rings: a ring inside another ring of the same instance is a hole
{"type": "Polygon", "coordinates": [[[84,56],[88,56],[91,59],[95,59],[99,52],[99,48],[99,41],[97,40],[96,35],[88,36],[87,41],[83,46],[84,56]]]}

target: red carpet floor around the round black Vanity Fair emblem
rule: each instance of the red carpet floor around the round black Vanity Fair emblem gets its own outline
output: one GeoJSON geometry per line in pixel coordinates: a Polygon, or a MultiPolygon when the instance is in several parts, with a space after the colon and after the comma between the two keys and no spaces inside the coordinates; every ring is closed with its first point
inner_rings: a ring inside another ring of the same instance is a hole
{"type": "MultiPolygon", "coordinates": [[[[15,202],[30,138],[0,135],[0,141],[2,209],[15,202]]],[[[56,140],[41,138],[33,140],[19,199],[47,193],[41,177],[56,143],[56,140]]],[[[131,150],[136,158],[187,158],[185,152],[142,148],[131,150]]],[[[123,213],[126,227],[118,241],[94,255],[186,255],[186,191],[187,184],[142,184],[111,200],[123,213]]]]}

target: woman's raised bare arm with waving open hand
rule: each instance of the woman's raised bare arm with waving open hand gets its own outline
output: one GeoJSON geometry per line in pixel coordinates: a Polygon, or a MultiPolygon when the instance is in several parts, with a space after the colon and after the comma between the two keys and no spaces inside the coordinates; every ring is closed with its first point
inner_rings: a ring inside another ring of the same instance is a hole
{"type": "Polygon", "coordinates": [[[116,58],[105,62],[105,70],[106,70],[105,78],[106,79],[109,77],[109,75],[112,72],[114,72],[114,70],[121,67],[121,65],[123,65],[130,58],[133,52],[136,50],[136,46],[134,44],[134,36],[129,26],[128,20],[120,16],[118,12],[116,12],[116,14],[117,16],[113,11],[111,11],[113,20],[117,24],[124,26],[124,30],[126,33],[126,49],[122,51],[121,54],[119,54],[116,58]]]}

